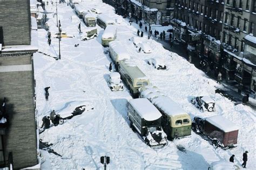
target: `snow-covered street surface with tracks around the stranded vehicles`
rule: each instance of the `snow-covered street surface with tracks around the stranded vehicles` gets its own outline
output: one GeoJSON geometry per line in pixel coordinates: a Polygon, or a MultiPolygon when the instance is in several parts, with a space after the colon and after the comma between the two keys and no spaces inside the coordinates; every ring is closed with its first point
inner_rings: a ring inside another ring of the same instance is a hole
{"type": "MultiPolygon", "coordinates": [[[[81,31],[86,29],[82,19],[66,3],[58,4],[58,19],[63,32],[72,38],[62,38],[61,59],[58,56],[58,38],[52,38],[48,45],[47,31],[38,29],[40,52],[33,57],[36,79],[36,105],[39,126],[42,118],[52,110],[64,115],[71,113],[77,106],[86,105],[93,110],[85,111],[64,124],[52,126],[40,134],[40,139],[53,144],[55,152],[45,153],[42,157],[42,169],[103,169],[100,157],[110,157],[107,169],[207,169],[218,160],[228,161],[235,155],[235,164],[242,164],[242,153],[248,151],[247,169],[256,168],[255,122],[256,112],[251,107],[238,104],[215,93],[221,86],[204,72],[198,70],[184,58],[164,49],[154,39],[147,39],[147,33],[141,39],[153,49],[152,53],[138,52],[129,38],[137,36],[138,24],[132,23],[114,13],[112,6],[99,0],[84,0],[79,3],[85,9],[98,8],[113,19],[122,20],[117,25],[117,39],[129,52],[138,67],[150,79],[150,83],[176,101],[191,118],[222,115],[239,127],[238,146],[232,149],[215,149],[200,135],[192,135],[174,141],[168,141],[161,148],[150,148],[143,139],[134,133],[127,119],[127,101],[132,99],[129,90],[112,92],[107,85],[109,64],[112,62],[107,47],[101,44],[104,32],[96,25],[98,37],[80,40],[81,31]],[[79,44],[75,47],[75,44],[79,44]],[[146,63],[147,59],[161,58],[167,70],[154,69],[146,63]],[[50,86],[49,101],[45,101],[44,88],[50,86]],[[215,112],[200,112],[190,100],[195,96],[210,96],[216,102],[215,112]],[[178,148],[186,149],[181,152],[178,148]]],[[[52,37],[58,32],[56,27],[56,4],[45,6],[49,18],[52,37]]],[[[156,27],[157,28],[157,27],[156,27]]],[[[160,29],[159,29],[160,30],[160,29]]],[[[145,30],[144,30],[145,31],[145,30]]],[[[154,30],[153,30],[154,31],[154,30]]]]}

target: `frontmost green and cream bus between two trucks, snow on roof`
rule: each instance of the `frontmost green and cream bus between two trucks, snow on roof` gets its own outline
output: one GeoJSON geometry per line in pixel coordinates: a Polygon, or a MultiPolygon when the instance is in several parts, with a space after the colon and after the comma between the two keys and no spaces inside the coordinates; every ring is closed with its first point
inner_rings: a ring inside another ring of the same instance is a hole
{"type": "Polygon", "coordinates": [[[167,96],[152,99],[152,104],[163,115],[162,126],[167,139],[173,140],[191,135],[191,118],[177,103],[167,96]]]}

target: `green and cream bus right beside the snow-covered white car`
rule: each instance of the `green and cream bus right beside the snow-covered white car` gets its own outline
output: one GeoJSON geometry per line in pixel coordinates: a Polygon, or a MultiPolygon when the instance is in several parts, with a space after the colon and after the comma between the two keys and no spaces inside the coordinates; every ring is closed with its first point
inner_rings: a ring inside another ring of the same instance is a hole
{"type": "Polygon", "coordinates": [[[119,72],[133,97],[139,96],[138,89],[150,84],[149,78],[138,68],[133,60],[119,60],[119,72]]]}

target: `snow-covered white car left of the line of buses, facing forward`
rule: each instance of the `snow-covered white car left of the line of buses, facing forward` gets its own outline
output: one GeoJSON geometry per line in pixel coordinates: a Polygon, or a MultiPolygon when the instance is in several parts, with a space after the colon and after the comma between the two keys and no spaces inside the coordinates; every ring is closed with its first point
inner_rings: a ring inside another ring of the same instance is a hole
{"type": "Polygon", "coordinates": [[[111,91],[122,91],[124,90],[124,84],[122,83],[121,76],[118,72],[112,72],[109,74],[107,79],[111,91]]]}

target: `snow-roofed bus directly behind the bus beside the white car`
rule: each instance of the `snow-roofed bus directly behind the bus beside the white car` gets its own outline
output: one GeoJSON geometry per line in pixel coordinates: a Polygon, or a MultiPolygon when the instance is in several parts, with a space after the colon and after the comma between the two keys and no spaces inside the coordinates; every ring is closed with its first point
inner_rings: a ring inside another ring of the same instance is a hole
{"type": "Polygon", "coordinates": [[[109,43],[109,55],[112,58],[114,65],[118,68],[119,60],[130,59],[129,53],[124,46],[117,40],[109,43]]]}

